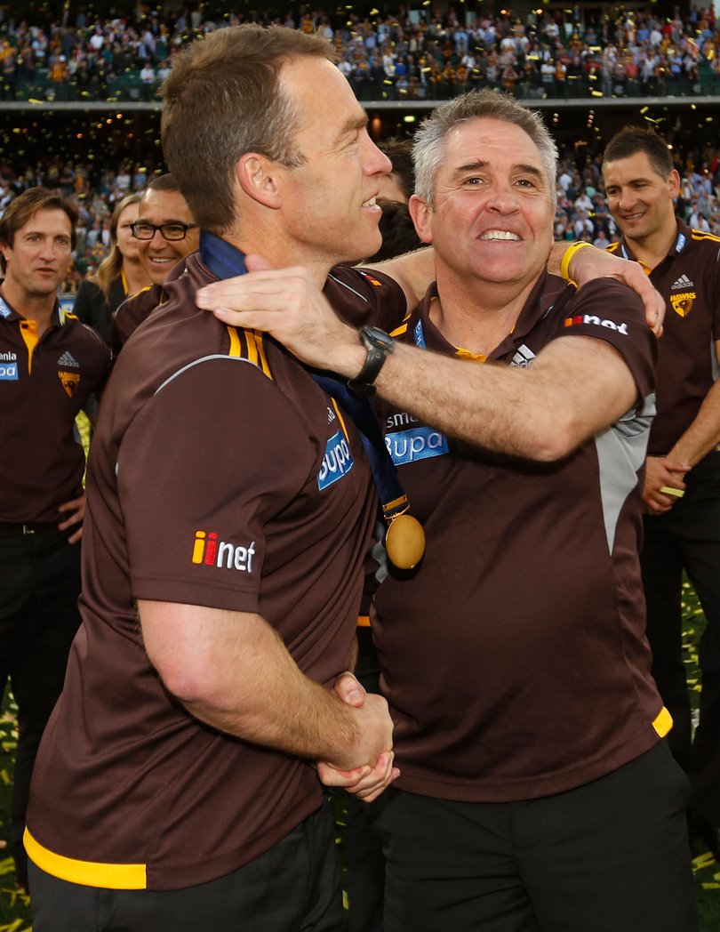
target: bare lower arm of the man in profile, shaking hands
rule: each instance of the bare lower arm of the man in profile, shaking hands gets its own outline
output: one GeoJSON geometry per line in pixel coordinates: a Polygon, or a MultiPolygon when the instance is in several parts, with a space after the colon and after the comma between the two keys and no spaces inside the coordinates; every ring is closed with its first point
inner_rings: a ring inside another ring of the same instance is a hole
{"type": "Polygon", "coordinates": [[[259,615],[146,600],[138,610],[166,688],[213,728],[340,770],[372,767],[391,747],[385,700],[356,707],[307,678],[259,615]]]}

